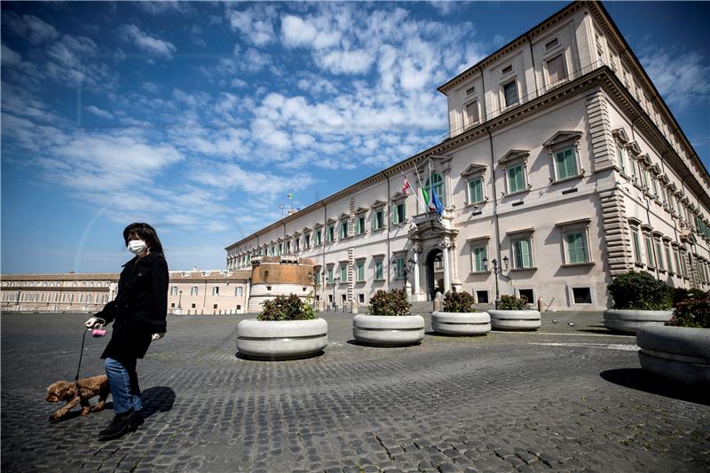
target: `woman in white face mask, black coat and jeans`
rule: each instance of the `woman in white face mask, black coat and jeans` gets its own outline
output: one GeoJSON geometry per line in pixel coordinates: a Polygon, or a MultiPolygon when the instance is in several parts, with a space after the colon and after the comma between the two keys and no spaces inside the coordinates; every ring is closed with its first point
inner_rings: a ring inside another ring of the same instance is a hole
{"type": "Polygon", "coordinates": [[[106,376],[114,398],[114,419],[99,432],[100,440],[119,438],[143,423],[136,362],[148,346],[165,335],[168,313],[168,264],[161,240],[148,224],[131,224],[123,230],[126,248],[136,255],[123,264],[113,301],[84,325],[99,327],[114,322],[106,350],[106,376]]]}

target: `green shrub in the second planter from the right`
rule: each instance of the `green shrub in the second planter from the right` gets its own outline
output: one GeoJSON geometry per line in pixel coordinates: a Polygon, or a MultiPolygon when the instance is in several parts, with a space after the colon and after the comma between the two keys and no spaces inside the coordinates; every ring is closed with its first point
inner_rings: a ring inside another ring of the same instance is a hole
{"type": "Polygon", "coordinates": [[[627,272],[606,288],[614,300],[614,309],[667,311],[673,307],[673,288],[648,272],[627,272]]]}

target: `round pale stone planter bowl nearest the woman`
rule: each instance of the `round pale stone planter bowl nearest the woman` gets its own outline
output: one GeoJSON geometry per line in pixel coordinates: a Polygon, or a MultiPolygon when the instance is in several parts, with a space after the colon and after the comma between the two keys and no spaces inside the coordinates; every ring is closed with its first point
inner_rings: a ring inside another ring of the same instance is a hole
{"type": "Polygon", "coordinates": [[[312,320],[241,320],[237,350],[254,359],[296,359],[326,348],[327,322],[312,320]]]}

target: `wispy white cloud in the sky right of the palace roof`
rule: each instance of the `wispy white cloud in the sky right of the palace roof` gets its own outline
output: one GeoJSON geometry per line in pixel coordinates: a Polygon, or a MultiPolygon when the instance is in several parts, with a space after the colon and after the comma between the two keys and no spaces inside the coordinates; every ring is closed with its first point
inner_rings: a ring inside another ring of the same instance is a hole
{"type": "Polygon", "coordinates": [[[683,109],[710,100],[710,66],[698,52],[655,49],[640,60],[669,106],[683,109]]]}

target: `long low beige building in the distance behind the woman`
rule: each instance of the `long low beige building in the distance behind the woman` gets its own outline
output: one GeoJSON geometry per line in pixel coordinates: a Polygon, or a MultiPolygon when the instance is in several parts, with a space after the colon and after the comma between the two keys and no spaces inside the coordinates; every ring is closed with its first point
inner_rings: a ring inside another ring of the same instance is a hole
{"type": "MultiPolygon", "coordinates": [[[[169,314],[247,311],[251,271],[171,271],[169,314]]],[[[97,312],[114,300],[118,273],[4,274],[0,311],[97,312]]]]}

